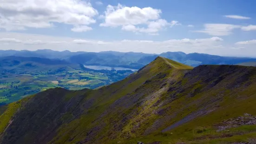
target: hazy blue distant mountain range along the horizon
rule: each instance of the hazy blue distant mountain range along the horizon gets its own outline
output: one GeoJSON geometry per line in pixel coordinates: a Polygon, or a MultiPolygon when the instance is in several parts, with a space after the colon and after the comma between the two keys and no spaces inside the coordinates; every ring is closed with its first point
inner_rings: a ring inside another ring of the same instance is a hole
{"type": "Polygon", "coordinates": [[[164,52],[161,54],[148,54],[142,52],[70,52],[70,51],[53,51],[53,50],[37,50],[37,51],[15,51],[0,50],[0,57],[19,56],[19,57],[38,57],[48,59],[62,59],[70,63],[79,63],[83,65],[104,65],[119,66],[125,68],[139,69],[158,56],[175,60],[190,66],[198,65],[235,65],[245,62],[256,62],[253,58],[223,57],[204,53],[184,52],[164,52]]]}

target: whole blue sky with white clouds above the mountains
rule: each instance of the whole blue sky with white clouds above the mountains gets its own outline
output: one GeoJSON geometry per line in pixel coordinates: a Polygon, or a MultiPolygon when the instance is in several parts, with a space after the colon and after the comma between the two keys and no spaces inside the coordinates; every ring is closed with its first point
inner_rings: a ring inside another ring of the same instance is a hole
{"type": "Polygon", "coordinates": [[[1,0],[0,49],[256,57],[256,0],[1,0]]]}

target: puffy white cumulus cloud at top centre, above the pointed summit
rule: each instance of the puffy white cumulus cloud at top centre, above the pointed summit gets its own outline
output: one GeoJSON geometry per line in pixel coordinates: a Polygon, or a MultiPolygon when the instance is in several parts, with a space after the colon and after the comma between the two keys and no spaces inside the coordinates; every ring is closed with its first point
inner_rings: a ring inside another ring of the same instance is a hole
{"type": "Polygon", "coordinates": [[[125,7],[121,4],[118,6],[108,5],[105,15],[101,18],[105,19],[100,26],[118,27],[122,26],[122,30],[131,31],[135,33],[149,33],[158,34],[160,30],[166,26],[180,25],[178,21],[171,21],[170,23],[160,18],[162,11],[152,7],[125,7]],[[144,27],[146,25],[147,27],[144,27]]]}

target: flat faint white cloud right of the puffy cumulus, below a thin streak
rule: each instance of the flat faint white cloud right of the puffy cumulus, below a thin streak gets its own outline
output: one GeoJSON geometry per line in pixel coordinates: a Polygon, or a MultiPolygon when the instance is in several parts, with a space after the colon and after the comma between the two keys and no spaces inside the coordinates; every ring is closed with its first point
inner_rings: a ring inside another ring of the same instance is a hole
{"type": "Polygon", "coordinates": [[[230,25],[230,24],[204,24],[204,29],[195,31],[198,33],[207,33],[213,36],[224,36],[230,35],[232,31],[236,28],[240,28],[239,25],[230,25]]]}

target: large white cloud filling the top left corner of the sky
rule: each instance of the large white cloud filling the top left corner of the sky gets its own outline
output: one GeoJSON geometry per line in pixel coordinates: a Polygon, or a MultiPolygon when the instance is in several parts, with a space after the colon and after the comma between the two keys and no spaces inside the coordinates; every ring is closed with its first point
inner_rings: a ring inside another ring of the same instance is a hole
{"type": "Polygon", "coordinates": [[[0,28],[25,30],[47,28],[54,23],[89,25],[98,11],[82,0],[1,0],[0,28]]]}

